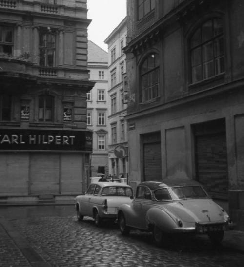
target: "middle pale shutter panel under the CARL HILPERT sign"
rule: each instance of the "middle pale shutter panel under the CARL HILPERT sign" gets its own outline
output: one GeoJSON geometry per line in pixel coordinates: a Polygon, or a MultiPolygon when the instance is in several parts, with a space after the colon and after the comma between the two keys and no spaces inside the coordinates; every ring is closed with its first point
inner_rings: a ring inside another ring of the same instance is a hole
{"type": "Polygon", "coordinates": [[[59,154],[30,153],[31,194],[58,194],[59,166],[59,154]]]}

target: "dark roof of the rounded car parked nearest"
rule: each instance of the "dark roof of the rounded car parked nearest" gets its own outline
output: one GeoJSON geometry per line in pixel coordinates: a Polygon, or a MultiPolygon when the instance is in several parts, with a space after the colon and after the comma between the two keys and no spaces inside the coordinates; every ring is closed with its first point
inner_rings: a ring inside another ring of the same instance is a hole
{"type": "Polygon", "coordinates": [[[151,190],[156,190],[164,187],[173,186],[201,186],[201,184],[191,179],[164,179],[156,181],[146,181],[139,184],[139,186],[147,186],[151,190]]]}

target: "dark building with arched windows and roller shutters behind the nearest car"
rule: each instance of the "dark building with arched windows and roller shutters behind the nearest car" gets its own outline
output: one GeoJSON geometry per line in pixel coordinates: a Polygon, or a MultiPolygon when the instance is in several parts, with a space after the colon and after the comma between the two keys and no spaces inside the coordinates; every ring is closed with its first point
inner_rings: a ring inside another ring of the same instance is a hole
{"type": "Polygon", "coordinates": [[[200,181],[244,229],[244,4],[127,1],[130,183],[200,181]]]}

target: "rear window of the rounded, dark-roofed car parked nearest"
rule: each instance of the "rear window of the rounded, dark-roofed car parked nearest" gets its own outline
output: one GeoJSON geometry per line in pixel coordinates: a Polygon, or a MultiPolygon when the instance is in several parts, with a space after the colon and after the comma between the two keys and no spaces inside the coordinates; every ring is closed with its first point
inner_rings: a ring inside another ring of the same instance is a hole
{"type": "Polygon", "coordinates": [[[181,186],[181,187],[172,187],[170,189],[174,199],[208,197],[201,186],[181,186]]]}

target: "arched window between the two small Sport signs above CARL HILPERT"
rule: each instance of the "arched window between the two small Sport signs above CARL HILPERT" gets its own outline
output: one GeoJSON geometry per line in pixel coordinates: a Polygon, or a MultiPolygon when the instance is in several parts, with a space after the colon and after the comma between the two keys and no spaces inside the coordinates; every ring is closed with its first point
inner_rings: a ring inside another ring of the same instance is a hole
{"type": "Polygon", "coordinates": [[[39,121],[53,121],[54,99],[51,95],[39,96],[39,121]]]}

